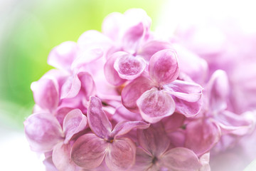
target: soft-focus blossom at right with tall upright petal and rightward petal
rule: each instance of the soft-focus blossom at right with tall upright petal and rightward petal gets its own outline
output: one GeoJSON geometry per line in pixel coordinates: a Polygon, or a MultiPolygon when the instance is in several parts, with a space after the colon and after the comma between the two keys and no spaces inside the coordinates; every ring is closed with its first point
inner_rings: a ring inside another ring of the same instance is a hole
{"type": "Polygon", "coordinates": [[[229,90],[225,71],[215,71],[206,86],[202,118],[186,125],[185,147],[198,155],[212,149],[223,135],[241,136],[254,129],[255,120],[250,113],[237,115],[227,110],[229,90]]]}

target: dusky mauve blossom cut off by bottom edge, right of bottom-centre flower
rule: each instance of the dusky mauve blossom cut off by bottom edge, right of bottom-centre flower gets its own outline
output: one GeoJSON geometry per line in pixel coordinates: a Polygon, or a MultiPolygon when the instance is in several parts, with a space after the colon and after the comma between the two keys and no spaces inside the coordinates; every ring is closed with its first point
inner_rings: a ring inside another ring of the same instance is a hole
{"type": "Polygon", "coordinates": [[[148,129],[137,130],[140,147],[137,148],[137,162],[134,170],[198,170],[201,163],[196,154],[185,147],[170,147],[161,123],[148,129]]]}

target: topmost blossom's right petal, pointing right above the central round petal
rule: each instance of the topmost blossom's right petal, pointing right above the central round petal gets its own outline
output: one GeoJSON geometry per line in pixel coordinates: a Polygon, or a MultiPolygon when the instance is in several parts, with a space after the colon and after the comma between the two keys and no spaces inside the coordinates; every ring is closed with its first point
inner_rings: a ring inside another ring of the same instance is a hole
{"type": "Polygon", "coordinates": [[[166,41],[148,41],[138,51],[137,55],[142,56],[146,61],[150,61],[154,53],[171,47],[171,44],[166,41]]]}

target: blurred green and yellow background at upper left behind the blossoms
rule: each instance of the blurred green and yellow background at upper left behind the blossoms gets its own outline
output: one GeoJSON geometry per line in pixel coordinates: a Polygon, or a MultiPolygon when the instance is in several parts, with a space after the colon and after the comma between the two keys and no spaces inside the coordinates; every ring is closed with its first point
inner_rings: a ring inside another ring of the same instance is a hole
{"type": "Polygon", "coordinates": [[[154,29],[164,0],[0,1],[0,123],[23,128],[31,115],[31,82],[50,70],[50,50],[77,41],[87,30],[101,31],[105,16],[130,8],[144,9],[154,29]]]}

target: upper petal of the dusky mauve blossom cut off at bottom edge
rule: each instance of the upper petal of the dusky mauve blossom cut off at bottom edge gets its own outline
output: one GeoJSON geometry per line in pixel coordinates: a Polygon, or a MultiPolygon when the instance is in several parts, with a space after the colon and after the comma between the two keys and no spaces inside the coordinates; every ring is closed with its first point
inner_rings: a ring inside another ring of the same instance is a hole
{"type": "Polygon", "coordinates": [[[170,140],[163,125],[156,123],[145,130],[137,130],[139,145],[152,156],[159,157],[169,147],[170,140]]]}

